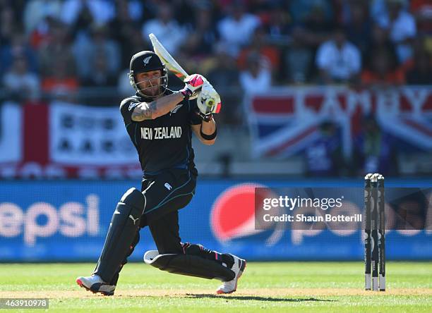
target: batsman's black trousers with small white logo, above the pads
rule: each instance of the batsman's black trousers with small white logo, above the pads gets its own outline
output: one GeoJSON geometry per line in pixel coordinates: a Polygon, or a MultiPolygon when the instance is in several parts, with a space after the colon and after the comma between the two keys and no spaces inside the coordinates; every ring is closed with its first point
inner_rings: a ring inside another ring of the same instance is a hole
{"type": "MultiPolygon", "coordinates": [[[[143,180],[141,191],[145,195],[145,209],[140,219],[140,228],[148,226],[160,254],[184,253],[179,235],[179,209],[191,202],[196,188],[196,173],[184,169],[164,171],[160,175],[143,180]]],[[[127,263],[140,240],[140,233],[131,245],[121,267],[127,263]]],[[[119,272],[121,271],[121,267],[119,272]]],[[[110,283],[116,285],[119,272],[110,283]]]]}

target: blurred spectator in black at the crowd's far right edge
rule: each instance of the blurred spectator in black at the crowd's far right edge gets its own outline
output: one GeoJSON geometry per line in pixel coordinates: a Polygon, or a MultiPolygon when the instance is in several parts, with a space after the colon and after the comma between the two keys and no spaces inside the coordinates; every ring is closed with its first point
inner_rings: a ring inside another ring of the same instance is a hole
{"type": "Polygon", "coordinates": [[[412,69],[406,74],[408,85],[432,85],[432,56],[426,51],[414,54],[412,69]]]}

